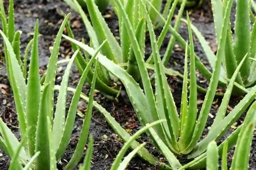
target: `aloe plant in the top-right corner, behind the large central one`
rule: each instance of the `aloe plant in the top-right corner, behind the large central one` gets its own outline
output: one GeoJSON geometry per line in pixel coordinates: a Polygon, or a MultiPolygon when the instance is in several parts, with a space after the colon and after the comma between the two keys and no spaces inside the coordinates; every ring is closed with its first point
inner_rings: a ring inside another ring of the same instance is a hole
{"type": "MultiPolygon", "coordinates": [[[[230,79],[234,74],[238,64],[241,62],[243,57],[247,55],[244,64],[239,71],[239,75],[236,79],[236,83],[244,88],[253,87],[256,84],[256,64],[251,62],[249,57],[256,58],[256,48],[255,48],[255,37],[256,37],[256,24],[255,16],[251,13],[250,18],[250,2],[253,1],[243,1],[238,0],[236,3],[236,21],[234,23],[234,38],[232,37],[231,25],[228,24],[227,37],[225,43],[225,53],[222,60],[222,77],[224,79],[230,79]],[[254,19],[254,20],[253,20],[254,19]],[[250,29],[250,22],[252,21],[253,26],[250,29]]],[[[215,31],[216,31],[216,41],[218,47],[220,46],[220,36],[221,28],[224,26],[224,9],[227,5],[227,1],[211,1],[212,12],[214,13],[215,31]]],[[[186,22],[185,20],[182,20],[186,22]]],[[[199,42],[201,43],[205,55],[210,63],[210,66],[214,68],[216,55],[211,51],[211,48],[205,38],[202,36],[200,31],[195,27],[191,27],[197,36],[199,42]]],[[[228,84],[226,81],[225,84],[228,84]]],[[[224,85],[225,85],[224,84],[224,85]]],[[[234,88],[232,94],[240,95],[243,94],[244,90],[241,88],[234,88]]]]}

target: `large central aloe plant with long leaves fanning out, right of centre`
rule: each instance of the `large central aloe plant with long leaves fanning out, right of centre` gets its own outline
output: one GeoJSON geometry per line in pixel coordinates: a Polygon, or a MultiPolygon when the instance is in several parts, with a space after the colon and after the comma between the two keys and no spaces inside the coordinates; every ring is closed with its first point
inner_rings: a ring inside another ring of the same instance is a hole
{"type": "MultiPolygon", "coordinates": [[[[155,63],[155,94],[151,85],[150,77],[148,76],[146,64],[143,60],[143,52],[141,51],[139,40],[136,38],[136,32],[133,29],[132,23],[129,19],[129,15],[127,15],[125,7],[120,2],[120,0],[116,1],[116,5],[121,12],[119,15],[122,15],[123,17],[123,22],[126,26],[126,31],[128,33],[127,35],[129,35],[132,47],[134,49],[135,58],[141,75],[143,90],[141,89],[140,85],[138,85],[136,81],[129,74],[127,74],[127,71],[122,69],[118,64],[114,63],[112,60],[108,59],[102,54],[98,54],[97,58],[99,63],[101,63],[106,69],[108,69],[108,71],[111,72],[111,74],[119,78],[119,80],[123,83],[126,92],[129,95],[129,99],[131,100],[131,103],[134,107],[134,110],[136,111],[138,118],[143,126],[159,119],[166,119],[165,123],[162,123],[150,129],[150,133],[148,133],[148,136],[151,138],[156,147],[166,157],[172,169],[179,169],[182,168],[182,165],[178,161],[176,156],[184,157],[187,159],[197,159],[201,157],[201,155],[205,153],[207,145],[211,141],[218,140],[220,137],[222,137],[225,132],[230,128],[230,126],[234,122],[236,122],[240,115],[252,103],[255,98],[256,86],[252,87],[250,91],[248,91],[248,93],[245,95],[244,99],[242,99],[240,103],[226,116],[228,101],[230,99],[234,82],[236,81],[243,62],[247,58],[247,55],[245,55],[229,81],[227,90],[224,94],[224,98],[208,135],[200,141],[201,135],[207,122],[208,113],[210,112],[211,104],[214,101],[215,91],[217,89],[218,80],[221,74],[221,62],[225,52],[224,44],[226,43],[226,36],[228,34],[225,26],[228,26],[229,24],[229,20],[227,18],[229,18],[233,1],[228,1],[226,5],[223,20],[224,27],[222,27],[221,30],[221,38],[219,41],[220,47],[217,51],[216,64],[199,116],[197,116],[197,87],[195,71],[196,56],[194,53],[193,36],[188,15],[187,22],[190,45],[188,46],[188,43],[186,43],[184,70],[185,75],[183,81],[182,102],[180,109],[181,113],[178,114],[173,95],[170,92],[170,88],[164,75],[164,67],[160,59],[158,44],[150,16],[147,13],[144,2],[141,0],[140,3],[142,4],[141,7],[143,7],[141,10],[147,22],[147,28],[150,33],[152,44],[153,58],[155,63]],[[189,102],[187,101],[188,54],[190,54],[189,102]]],[[[68,36],[64,35],[63,37],[70,40],[72,43],[75,43],[87,53],[91,55],[95,54],[95,50],[93,50],[93,48],[91,48],[90,46],[82,42],[76,41],[68,36]]],[[[101,112],[103,111],[101,110],[101,112]]],[[[105,113],[103,114],[105,115],[105,113]]],[[[110,122],[110,120],[108,120],[108,122],[110,122]]],[[[120,136],[124,136],[124,134],[120,133],[120,127],[116,128],[115,125],[112,124],[111,126],[120,136]]],[[[238,131],[230,135],[232,142],[236,141],[238,137],[237,132],[238,131]]],[[[124,137],[122,138],[124,140],[127,140],[124,137]]],[[[232,142],[230,142],[230,144],[232,142]]],[[[229,145],[229,147],[231,147],[231,145],[229,145]]],[[[143,158],[143,155],[140,156],[143,158]]],[[[147,161],[152,160],[148,159],[148,157],[144,157],[144,159],[146,159],[147,161]]],[[[154,164],[155,163],[156,162],[154,162],[154,164]]],[[[197,165],[198,164],[192,164],[188,167],[194,169],[197,165]]],[[[205,162],[200,162],[199,165],[205,166],[205,162]]]]}

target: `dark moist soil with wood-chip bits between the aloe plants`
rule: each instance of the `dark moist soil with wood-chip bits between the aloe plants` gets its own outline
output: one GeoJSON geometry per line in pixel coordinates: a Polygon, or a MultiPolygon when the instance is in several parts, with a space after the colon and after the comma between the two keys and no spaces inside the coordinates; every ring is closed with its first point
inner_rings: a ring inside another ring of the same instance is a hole
{"type": "MultiPolygon", "coordinates": [[[[5,1],[6,2],[6,1],[5,1]]],[[[35,24],[36,18],[39,19],[39,32],[42,35],[39,41],[39,62],[40,62],[40,70],[41,73],[44,73],[49,56],[50,56],[50,49],[53,45],[53,40],[55,35],[58,32],[60,23],[63,19],[62,14],[71,12],[71,26],[73,29],[73,33],[77,40],[81,40],[84,38],[86,42],[89,41],[86,29],[84,28],[83,22],[79,15],[74,13],[65,3],[60,0],[44,0],[44,1],[32,1],[32,0],[15,0],[15,22],[16,22],[16,30],[22,30],[23,34],[21,36],[21,52],[24,54],[25,48],[29,40],[32,38],[33,28],[35,24]]],[[[7,7],[8,4],[5,4],[7,7]]],[[[190,14],[190,18],[193,21],[194,25],[202,32],[202,34],[206,37],[209,41],[209,44],[212,47],[212,50],[216,51],[216,42],[215,42],[215,31],[214,31],[214,23],[211,13],[211,7],[209,0],[205,0],[200,9],[188,9],[190,14]]],[[[119,36],[118,33],[118,20],[117,17],[113,14],[113,10],[109,7],[106,11],[104,11],[106,15],[105,19],[108,22],[112,32],[115,36],[119,36]]],[[[234,10],[232,10],[231,18],[234,18],[234,10]]],[[[175,20],[173,20],[173,23],[175,20]]],[[[156,30],[156,34],[160,34],[161,29],[156,30]]],[[[182,23],[179,33],[182,37],[187,38],[187,28],[182,23]]],[[[168,34],[164,40],[163,46],[161,48],[161,54],[164,53],[165,48],[168,44],[168,39],[170,35],[168,34]]],[[[187,38],[188,39],[188,38],[187,38]]],[[[5,67],[4,63],[4,53],[3,53],[3,41],[0,42],[1,45],[1,60],[0,60],[0,67],[5,67]]],[[[150,41],[146,42],[146,56],[149,56],[151,53],[150,48],[150,41]]],[[[195,51],[199,58],[208,65],[205,55],[202,51],[202,47],[195,39],[195,51]]],[[[72,55],[70,43],[66,40],[62,40],[60,51],[59,51],[59,59],[69,58],[72,55]]],[[[184,65],[184,51],[181,47],[176,44],[172,58],[168,63],[168,67],[172,67],[180,72],[183,72],[183,65],[184,65]]],[[[56,83],[59,84],[61,81],[61,76],[63,75],[63,70],[65,70],[66,65],[62,65],[58,68],[57,76],[56,76],[56,83]]],[[[72,68],[72,76],[70,76],[69,85],[71,87],[75,87],[79,80],[80,74],[77,71],[76,67],[72,68]]],[[[198,83],[203,87],[207,88],[208,82],[199,74],[198,72],[198,83]]],[[[178,79],[177,77],[169,77],[169,84],[172,87],[173,95],[175,96],[175,102],[177,104],[177,108],[180,107],[180,100],[181,100],[181,88],[182,88],[182,80],[178,79]]],[[[10,89],[10,84],[7,79],[7,74],[5,69],[0,71],[0,116],[4,120],[4,122],[9,126],[12,132],[19,138],[18,132],[18,123],[17,123],[17,116],[15,111],[15,104],[13,100],[12,91],[10,89]]],[[[88,84],[84,85],[83,92],[88,94],[90,91],[90,86],[88,84]]],[[[220,89],[223,91],[223,89],[220,89]]],[[[119,103],[114,103],[108,99],[106,99],[100,92],[96,92],[95,101],[101,104],[106,110],[108,110],[112,116],[115,117],[117,122],[121,124],[123,128],[127,131],[131,132],[131,134],[135,133],[137,130],[141,128],[141,125],[138,121],[138,118],[133,110],[129,99],[127,98],[125,92],[123,91],[123,95],[119,99],[119,103]]],[[[57,93],[56,93],[57,95],[57,93]]],[[[68,95],[68,102],[67,102],[67,109],[71,102],[71,95],[68,95]]],[[[202,105],[202,101],[204,99],[204,94],[198,95],[198,105],[199,109],[202,105]]],[[[231,98],[230,105],[228,107],[229,111],[241,100],[242,98],[231,98]]],[[[205,128],[206,135],[211,123],[213,122],[213,117],[220,105],[221,99],[216,98],[215,104],[212,105],[211,108],[211,115],[208,118],[208,122],[205,128]]],[[[79,110],[84,113],[86,110],[87,104],[83,101],[79,102],[79,110]]],[[[226,136],[236,128],[236,126],[240,125],[243,122],[244,115],[237,121],[237,124],[233,126],[227,132],[226,136]]],[[[74,125],[73,135],[66,151],[65,155],[61,158],[61,161],[58,163],[58,168],[62,169],[63,165],[67,163],[67,161],[71,158],[76,143],[78,141],[79,132],[81,130],[82,125],[82,117],[76,116],[76,122],[74,125]]],[[[106,123],[104,116],[94,110],[93,111],[93,119],[91,122],[90,134],[94,137],[94,150],[93,150],[93,159],[92,159],[92,170],[104,170],[110,169],[111,164],[116,157],[118,151],[123,145],[123,142],[120,141],[119,137],[115,134],[115,132],[111,129],[111,127],[106,123]]],[[[256,137],[253,137],[252,147],[251,147],[251,155],[250,155],[250,169],[255,169],[256,167],[256,137]],[[253,168],[254,167],[254,168],[253,168]]],[[[204,137],[204,136],[202,136],[204,137]]],[[[139,139],[139,142],[146,141],[147,145],[146,148],[155,156],[157,156],[160,160],[164,161],[163,156],[155,149],[154,145],[150,142],[146,135],[142,135],[139,139]]],[[[84,154],[86,151],[84,152],[84,154]]],[[[228,162],[230,165],[231,155],[233,153],[233,149],[230,150],[228,155],[228,162]]],[[[8,164],[10,162],[10,158],[0,150],[0,169],[8,169],[8,164]]],[[[81,159],[82,162],[82,159],[81,159]]],[[[182,162],[182,160],[181,160],[182,162]]],[[[182,162],[184,163],[184,162],[182,162]]],[[[130,165],[127,167],[130,170],[137,170],[137,169],[157,169],[157,167],[148,164],[147,162],[143,161],[139,157],[133,158],[130,165]]]]}

